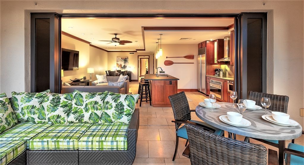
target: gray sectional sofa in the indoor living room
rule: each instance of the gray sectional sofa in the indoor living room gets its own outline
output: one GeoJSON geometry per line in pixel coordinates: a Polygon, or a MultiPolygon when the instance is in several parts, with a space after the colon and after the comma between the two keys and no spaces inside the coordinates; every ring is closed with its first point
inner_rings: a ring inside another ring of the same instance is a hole
{"type": "Polygon", "coordinates": [[[71,93],[74,90],[84,91],[84,92],[114,92],[121,94],[128,94],[129,92],[129,76],[126,77],[126,80],[123,82],[122,86],[109,86],[109,81],[117,82],[119,76],[106,76],[107,82],[98,83],[98,80],[92,81],[91,86],[62,86],[61,93],[71,93]]]}

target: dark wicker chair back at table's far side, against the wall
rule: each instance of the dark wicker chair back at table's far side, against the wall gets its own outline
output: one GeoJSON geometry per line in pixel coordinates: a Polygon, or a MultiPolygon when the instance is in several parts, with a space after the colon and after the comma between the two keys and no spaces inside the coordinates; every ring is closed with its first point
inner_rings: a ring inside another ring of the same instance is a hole
{"type": "Polygon", "coordinates": [[[288,101],[289,101],[288,96],[260,93],[254,91],[249,91],[247,95],[247,99],[255,101],[255,104],[259,106],[261,106],[262,97],[270,98],[271,105],[267,109],[271,111],[287,113],[288,101]]]}

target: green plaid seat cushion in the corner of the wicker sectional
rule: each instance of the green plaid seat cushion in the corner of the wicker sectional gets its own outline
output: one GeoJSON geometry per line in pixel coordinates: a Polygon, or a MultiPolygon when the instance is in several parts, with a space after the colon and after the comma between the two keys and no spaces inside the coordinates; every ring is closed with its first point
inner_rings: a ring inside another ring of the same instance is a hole
{"type": "MultiPolygon", "coordinates": [[[[33,124],[32,122],[18,123],[12,128],[0,134],[0,141],[2,140],[29,140],[38,133],[42,132],[47,127],[51,126],[49,123],[33,124]]],[[[29,143],[27,143],[29,145],[29,143]]],[[[27,146],[28,148],[28,146],[27,146]]]]}

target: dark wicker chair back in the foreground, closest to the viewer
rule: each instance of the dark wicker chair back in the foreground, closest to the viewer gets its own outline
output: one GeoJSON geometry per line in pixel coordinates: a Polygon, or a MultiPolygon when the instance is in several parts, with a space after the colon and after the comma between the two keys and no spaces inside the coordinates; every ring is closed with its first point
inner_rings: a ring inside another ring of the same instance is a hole
{"type": "Polygon", "coordinates": [[[191,124],[186,124],[186,129],[190,145],[191,164],[267,164],[267,149],[261,144],[217,136],[191,124]]]}

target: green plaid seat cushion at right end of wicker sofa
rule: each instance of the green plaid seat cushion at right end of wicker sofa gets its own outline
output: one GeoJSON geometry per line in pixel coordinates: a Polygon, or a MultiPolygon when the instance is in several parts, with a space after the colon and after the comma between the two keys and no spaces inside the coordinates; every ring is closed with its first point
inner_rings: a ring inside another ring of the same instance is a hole
{"type": "Polygon", "coordinates": [[[128,126],[122,123],[94,124],[78,140],[78,149],[128,150],[128,126]]]}

